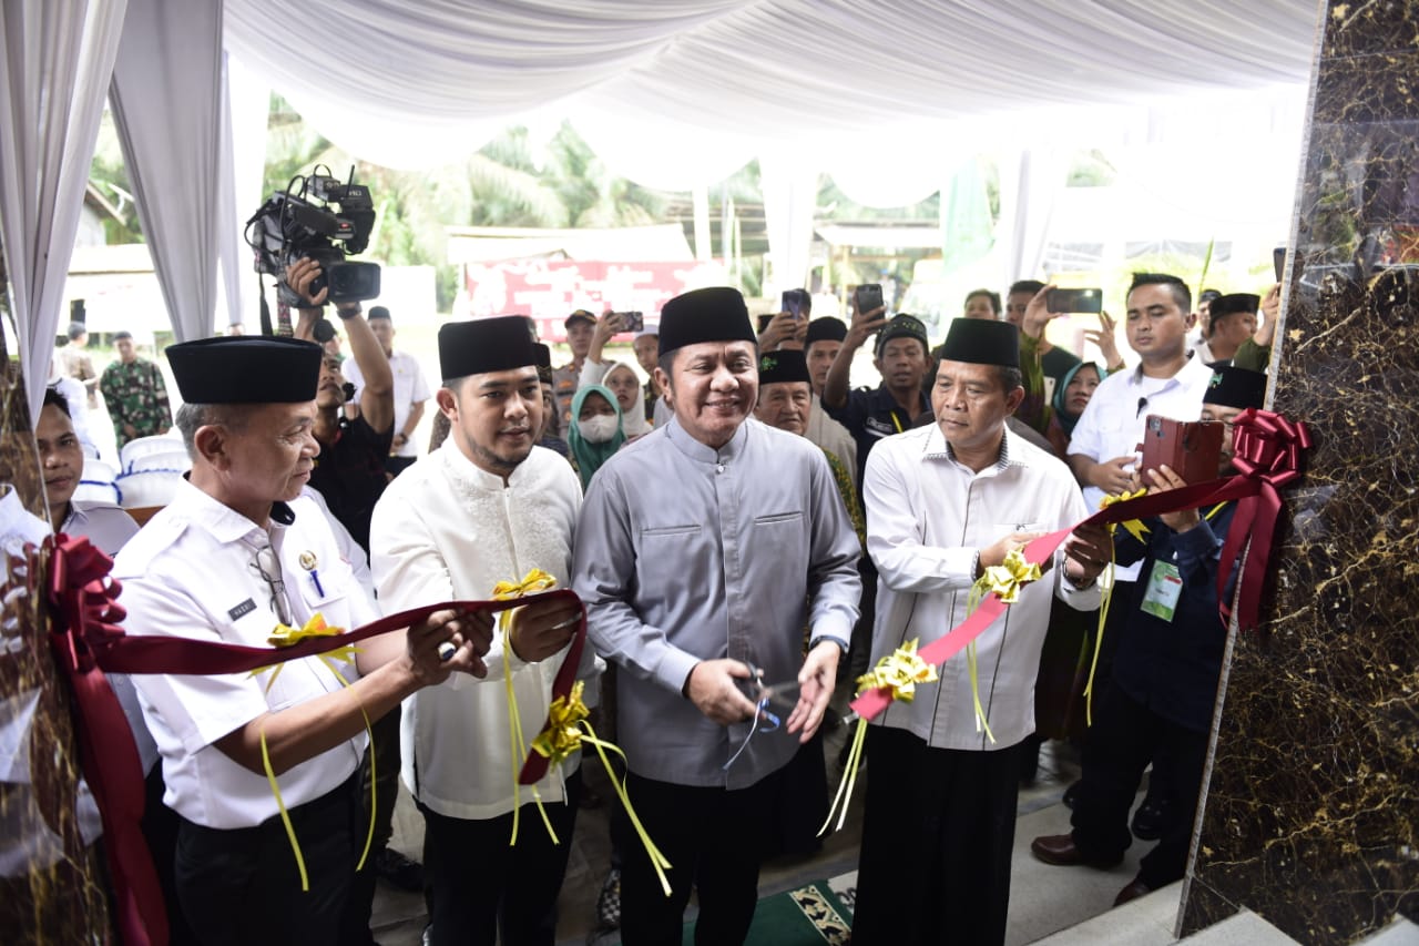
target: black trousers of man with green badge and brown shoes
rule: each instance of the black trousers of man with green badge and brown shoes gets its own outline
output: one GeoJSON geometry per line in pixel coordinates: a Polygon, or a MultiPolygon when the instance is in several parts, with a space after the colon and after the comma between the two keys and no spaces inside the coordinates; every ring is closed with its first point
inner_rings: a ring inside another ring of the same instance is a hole
{"type": "Polygon", "coordinates": [[[1084,740],[1084,778],[1070,817],[1080,851],[1111,859],[1128,848],[1128,810],[1155,753],[1166,756],[1168,764],[1155,767],[1154,777],[1168,780],[1168,794],[1182,817],[1138,866],[1138,879],[1151,889],[1181,881],[1186,868],[1208,733],[1168,722],[1110,682],[1094,706],[1094,726],[1084,740]]]}

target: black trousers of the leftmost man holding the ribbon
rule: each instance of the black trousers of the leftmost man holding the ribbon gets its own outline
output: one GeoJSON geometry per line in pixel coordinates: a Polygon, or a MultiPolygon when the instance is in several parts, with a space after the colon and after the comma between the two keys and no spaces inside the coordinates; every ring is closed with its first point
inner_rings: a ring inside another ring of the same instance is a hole
{"type": "MultiPolygon", "coordinates": [[[[355,868],[359,778],[289,810],[311,889],[280,818],[220,830],[180,820],[175,884],[183,915],[204,946],[336,946],[355,868]]],[[[180,815],[179,815],[180,817],[180,815]]]]}

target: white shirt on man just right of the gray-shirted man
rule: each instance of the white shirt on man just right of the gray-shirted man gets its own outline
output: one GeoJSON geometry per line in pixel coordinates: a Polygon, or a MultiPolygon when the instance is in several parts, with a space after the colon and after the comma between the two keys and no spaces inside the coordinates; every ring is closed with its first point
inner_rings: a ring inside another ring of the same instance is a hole
{"type": "MultiPolygon", "coordinates": [[[[912,638],[925,646],[966,619],[978,550],[1087,516],[1074,477],[1044,450],[1006,432],[999,463],[975,473],[952,457],[937,425],[878,442],[863,497],[867,551],[878,572],[873,665],[912,638]]],[[[976,638],[981,703],[995,743],[976,730],[965,652],[938,669],[939,683],[918,687],[915,700],[893,703],[877,720],[934,749],[1006,749],[1033,733],[1051,592],[1081,611],[1098,607],[1098,585],[1074,589],[1063,575],[1057,553],[1053,570],[976,638]]]]}

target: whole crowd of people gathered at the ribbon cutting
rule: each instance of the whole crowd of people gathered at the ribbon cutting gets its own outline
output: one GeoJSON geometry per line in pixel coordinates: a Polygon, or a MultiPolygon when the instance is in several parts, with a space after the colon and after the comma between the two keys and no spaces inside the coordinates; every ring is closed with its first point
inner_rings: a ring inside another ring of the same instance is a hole
{"type": "MultiPolygon", "coordinates": [[[[1033,280],[1003,301],[972,293],[935,347],[920,318],[883,307],[812,318],[807,293],[755,331],[736,290],[705,288],[636,335],[644,384],[607,357],[623,315],[578,310],[559,368],[525,317],[443,325],[431,389],[394,351],[390,312],[328,307],[319,274],[308,260],[287,273],[294,338],[166,349],[192,472],[142,530],[71,500],[77,405],[51,392],[35,430],[51,518],[115,555],[131,635],[267,646],[282,625],[488,599],[534,570],[573,589],[589,643],[575,675],[624,753],[637,815],[613,811],[603,889],[629,946],[681,942],[691,892],[697,943],[745,940],[761,864],[813,849],[826,817],[834,692],[840,709],[870,666],[965,619],[985,571],[1034,537],[1107,496],[1185,486],[1139,469],[1149,415],[1220,423],[1225,473],[1235,416],[1261,403],[1279,298],[1195,308],[1181,278],[1138,274],[1122,300],[1131,355],[1100,312],[1086,332],[1100,361],[1084,362],[1046,337],[1066,314],[1033,280]],[[314,342],[329,308],[343,361],[314,342]],[[853,388],[864,347],[880,382],[853,388]],[[668,889],[637,827],[671,865],[668,889]]],[[[94,378],[71,345],[61,374],[84,398],[94,378]]],[[[166,429],[150,362],[121,348],[96,386],[121,437],[166,429]]],[[[1036,838],[1034,857],[1107,868],[1151,835],[1118,902],[1182,876],[1230,518],[1172,513],[1144,541],[1074,528],[969,662],[874,720],[854,942],[1003,942],[1017,793],[1046,736],[1081,743],[1083,777],[1073,831],[1036,838]],[[1066,733],[1080,687],[1046,683],[1050,642],[1097,621],[1105,584],[1093,727],[1066,733]],[[1151,815],[1131,832],[1149,766],[1151,815]]],[[[587,787],[573,757],[519,790],[509,726],[546,717],[579,614],[565,598],[498,619],[446,608],[280,672],[118,676],[173,942],[368,943],[383,875],[424,891],[426,942],[553,943],[587,787]],[[400,783],[424,820],[421,865],[387,847],[400,783]]]]}

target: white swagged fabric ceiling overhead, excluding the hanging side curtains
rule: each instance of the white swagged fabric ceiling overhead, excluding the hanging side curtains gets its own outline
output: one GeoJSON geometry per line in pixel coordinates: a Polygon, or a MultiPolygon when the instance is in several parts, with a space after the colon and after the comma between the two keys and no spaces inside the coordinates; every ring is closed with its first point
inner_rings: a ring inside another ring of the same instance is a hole
{"type": "MultiPolygon", "coordinates": [[[[880,156],[1003,128],[1030,141],[1084,111],[1298,87],[1317,11],[1317,0],[226,0],[226,44],[376,163],[426,166],[529,115],[566,116],[619,170],[644,165],[627,176],[688,189],[763,149],[880,156]]],[[[1117,132],[1117,114],[1088,124],[1110,122],[1117,132]]]]}

